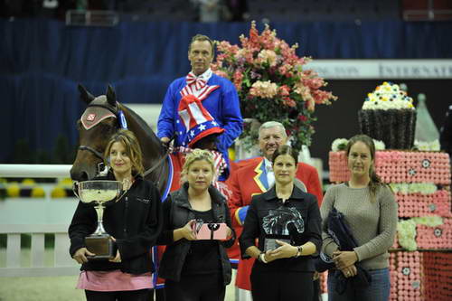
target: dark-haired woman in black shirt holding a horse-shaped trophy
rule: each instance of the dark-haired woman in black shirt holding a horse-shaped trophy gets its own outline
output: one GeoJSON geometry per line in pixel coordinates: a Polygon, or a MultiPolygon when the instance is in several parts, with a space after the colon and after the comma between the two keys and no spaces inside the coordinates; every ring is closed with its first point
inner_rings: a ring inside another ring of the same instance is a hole
{"type": "Polygon", "coordinates": [[[251,270],[254,301],[312,300],[314,261],[320,249],[320,212],[315,196],[294,184],[298,154],[279,146],[272,157],[275,186],[252,198],[240,236],[251,270]],[[259,239],[259,245],[255,245],[259,239]]]}

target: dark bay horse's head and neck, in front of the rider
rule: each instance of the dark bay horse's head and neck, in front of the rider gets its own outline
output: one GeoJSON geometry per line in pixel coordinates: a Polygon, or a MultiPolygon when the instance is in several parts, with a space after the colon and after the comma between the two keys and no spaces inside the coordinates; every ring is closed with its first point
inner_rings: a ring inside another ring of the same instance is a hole
{"type": "Polygon", "coordinates": [[[71,168],[71,179],[87,181],[94,178],[98,173],[99,163],[104,161],[103,152],[109,138],[127,123],[127,128],[134,132],[141,146],[143,165],[148,172],[146,179],[155,183],[161,195],[167,193],[172,177],[171,164],[165,147],[145,120],[120,104],[109,85],[106,95],[98,97],[92,96],[81,85],[79,90],[80,98],[87,103],[88,108],[78,121],[80,146],[71,168]]]}

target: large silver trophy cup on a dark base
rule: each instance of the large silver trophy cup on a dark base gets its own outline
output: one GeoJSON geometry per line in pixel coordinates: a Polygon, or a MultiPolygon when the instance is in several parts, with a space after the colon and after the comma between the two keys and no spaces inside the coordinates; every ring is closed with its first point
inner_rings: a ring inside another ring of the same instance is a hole
{"type": "Polygon", "coordinates": [[[86,248],[96,254],[89,259],[113,259],[117,246],[111,236],[104,229],[102,219],[107,202],[118,202],[124,195],[123,186],[118,181],[85,181],[74,183],[74,193],[81,202],[94,205],[98,213],[98,228],[85,238],[86,248]]]}

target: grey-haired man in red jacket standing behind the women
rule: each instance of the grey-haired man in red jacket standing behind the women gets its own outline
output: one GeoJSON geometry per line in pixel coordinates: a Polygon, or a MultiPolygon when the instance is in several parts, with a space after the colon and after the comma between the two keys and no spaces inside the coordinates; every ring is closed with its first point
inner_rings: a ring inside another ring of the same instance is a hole
{"type": "MultiPolygon", "coordinates": [[[[241,161],[241,167],[231,173],[227,181],[232,192],[229,207],[232,227],[236,231],[237,237],[240,236],[243,229],[243,221],[245,221],[252,196],[265,193],[273,186],[275,176],[271,166],[271,156],[278,146],[286,143],[286,129],[281,123],[276,121],[264,123],[259,127],[259,147],[263,157],[252,158],[246,162],[241,161]]],[[[299,180],[296,184],[307,193],[314,194],[320,207],[323,193],[315,167],[298,163],[296,177],[299,180]]],[[[230,249],[229,255],[231,259],[240,258],[238,244],[230,249]]],[[[251,290],[250,273],[253,264],[254,259],[240,259],[236,277],[236,286],[240,289],[251,290]]]]}

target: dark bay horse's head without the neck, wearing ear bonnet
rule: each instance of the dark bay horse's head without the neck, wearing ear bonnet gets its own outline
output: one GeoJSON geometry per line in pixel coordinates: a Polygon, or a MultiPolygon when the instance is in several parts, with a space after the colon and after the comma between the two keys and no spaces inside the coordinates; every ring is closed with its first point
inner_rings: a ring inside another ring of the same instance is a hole
{"type": "Polygon", "coordinates": [[[118,103],[115,91],[109,85],[106,95],[97,98],[81,85],[79,90],[80,99],[88,104],[88,108],[77,121],[80,146],[71,168],[71,179],[87,181],[98,173],[108,140],[118,129],[118,103]]]}

